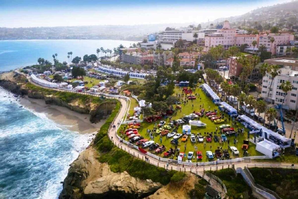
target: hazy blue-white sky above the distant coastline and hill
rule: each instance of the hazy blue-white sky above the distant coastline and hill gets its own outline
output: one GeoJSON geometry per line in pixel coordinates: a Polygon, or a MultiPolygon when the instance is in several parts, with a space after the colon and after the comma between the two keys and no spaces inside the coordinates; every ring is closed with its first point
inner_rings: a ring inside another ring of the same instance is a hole
{"type": "Polygon", "coordinates": [[[0,27],[198,23],[290,0],[0,0],[0,27]]]}

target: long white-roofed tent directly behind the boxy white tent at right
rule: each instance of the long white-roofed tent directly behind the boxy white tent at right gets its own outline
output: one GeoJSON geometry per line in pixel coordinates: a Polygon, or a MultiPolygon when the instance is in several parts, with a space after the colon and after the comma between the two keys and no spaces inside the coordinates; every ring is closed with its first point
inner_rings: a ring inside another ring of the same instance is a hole
{"type": "Polygon", "coordinates": [[[286,138],[285,136],[280,135],[277,132],[273,132],[270,129],[263,127],[262,125],[252,120],[251,118],[247,117],[246,115],[239,115],[238,118],[248,123],[247,127],[249,129],[252,129],[252,130],[262,129],[262,135],[261,135],[262,138],[278,144],[281,148],[287,148],[291,146],[291,138],[286,138]]]}

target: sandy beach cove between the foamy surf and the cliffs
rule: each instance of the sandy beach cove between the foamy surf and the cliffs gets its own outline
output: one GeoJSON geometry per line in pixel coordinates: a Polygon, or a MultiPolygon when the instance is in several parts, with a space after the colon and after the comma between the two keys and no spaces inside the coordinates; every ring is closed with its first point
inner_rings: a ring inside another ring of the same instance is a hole
{"type": "Polygon", "coordinates": [[[105,120],[101,120],[97,124],[92,124],[89,121],[90,115],[88,114],[81,114],[66,107],[49,105],[44,100],[28,98],[28,96],[21,98],[21,104],[35,112],[44,113],[57,124],[81,134],[96,132],[105,122],[105,120]]]}

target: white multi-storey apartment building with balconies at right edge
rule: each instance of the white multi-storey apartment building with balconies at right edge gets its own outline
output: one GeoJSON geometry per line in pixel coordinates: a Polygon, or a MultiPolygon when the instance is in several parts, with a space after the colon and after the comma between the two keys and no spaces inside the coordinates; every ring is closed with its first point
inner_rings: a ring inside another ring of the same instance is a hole
{"type": "Polygon", "coordinates": [[[271,102],[272,104],[282,104],[284,101],[284,109],[295,110],[298,108],[298,72],[291,70],[291,67],[289,66],[281,68],[279,72],[280,75],[276,76],[273,81],[269,74],[266,74],[263,77],[262,97],[266,99],[269,93],[269,97],[267,99],[268,102],[271,102]],[[290,81],[293,85],[292,90],[288,93],[283,92],[281,89],[281,84],[285,81],[290,81]]]}

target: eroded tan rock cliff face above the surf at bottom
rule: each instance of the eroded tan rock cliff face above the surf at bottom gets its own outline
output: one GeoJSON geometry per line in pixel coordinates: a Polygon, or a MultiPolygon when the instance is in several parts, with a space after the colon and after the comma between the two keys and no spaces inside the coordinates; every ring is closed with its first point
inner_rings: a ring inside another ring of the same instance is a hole
{"type": "Polygon", "coordinates": [[[60,199],[144,198],[162,187],[151,180],[131,177],[127,172],[113,173],[96,156],[95,149],[89,147],[70,165],[60,199]]]}

